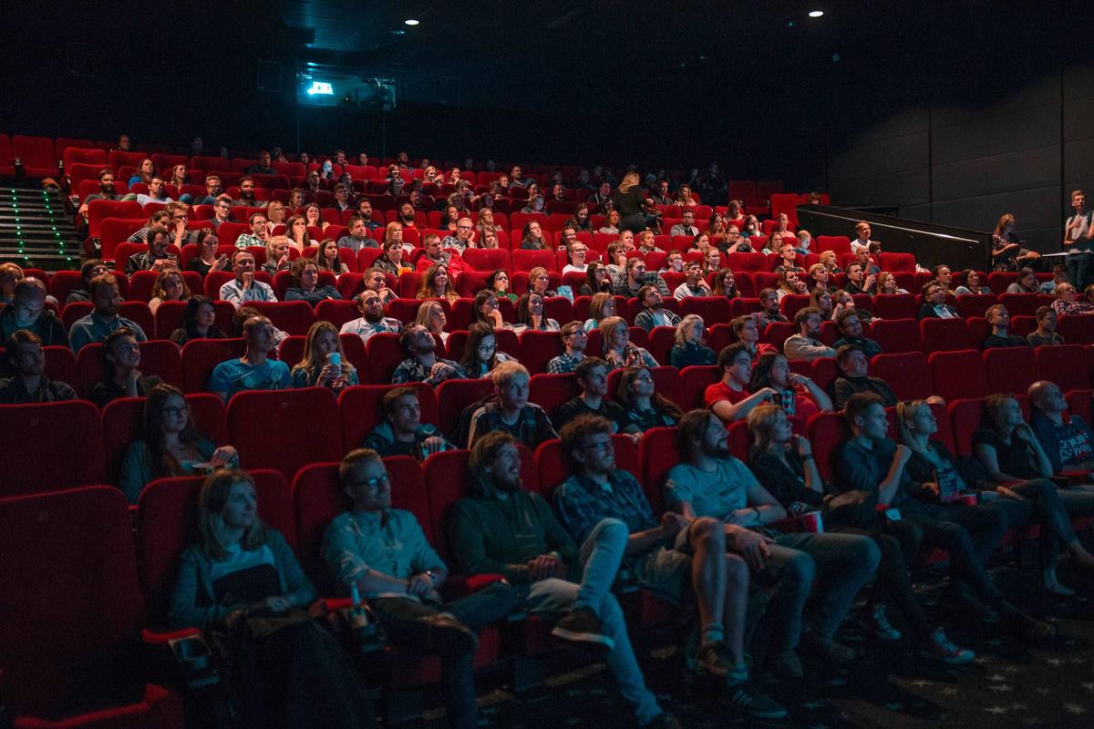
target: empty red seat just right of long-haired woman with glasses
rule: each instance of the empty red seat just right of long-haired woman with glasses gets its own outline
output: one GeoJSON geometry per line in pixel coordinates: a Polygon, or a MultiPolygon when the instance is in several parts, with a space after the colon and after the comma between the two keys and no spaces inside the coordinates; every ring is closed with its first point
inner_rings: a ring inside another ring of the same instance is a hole
{"type": "Polygon", "coordinates": [[[243,468],[291,478],[306,463],[341,457],[338,402],[322,387],[237,392],[228,403],[228,430],[243,468]]]}

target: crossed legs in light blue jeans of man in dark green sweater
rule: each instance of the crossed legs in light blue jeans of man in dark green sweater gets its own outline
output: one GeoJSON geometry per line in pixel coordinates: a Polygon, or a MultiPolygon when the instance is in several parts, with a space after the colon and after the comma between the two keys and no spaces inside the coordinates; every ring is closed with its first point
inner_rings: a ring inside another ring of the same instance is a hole
{"type": "Polygon", "coordinates": [[[572,608],[587,608],[601,620],[604,634],[615,642],[607,655],[607,665],[619,684],[619,693],[635,708],[639,724],[649,724],[661,714],[657,699],[642,679],[638,659],[631,648],[624,622],[622,609],[612,595],[619,564],[630,532],[618,519],[604,519],[589,533],[581,545],[579,564],[581,583],[550,577],[533,583],[525,608],[534,613],[561,613],[572,608]]]}

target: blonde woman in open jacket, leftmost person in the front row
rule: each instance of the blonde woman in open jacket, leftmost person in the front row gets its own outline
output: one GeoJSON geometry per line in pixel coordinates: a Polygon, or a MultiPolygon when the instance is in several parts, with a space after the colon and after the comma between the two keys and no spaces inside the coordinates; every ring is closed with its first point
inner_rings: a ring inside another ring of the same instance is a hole
{"type": "Polygon", "coordinates": [[[309,619],[315,589],[284,537],[258,517],[254,479],[235,469],[209,475],[197,531],[178,561],[171,624],[224,635],[240,726],[310,727],[318,717],[325,727],[365,726],[371,707],[357,670],[309,619]]]}

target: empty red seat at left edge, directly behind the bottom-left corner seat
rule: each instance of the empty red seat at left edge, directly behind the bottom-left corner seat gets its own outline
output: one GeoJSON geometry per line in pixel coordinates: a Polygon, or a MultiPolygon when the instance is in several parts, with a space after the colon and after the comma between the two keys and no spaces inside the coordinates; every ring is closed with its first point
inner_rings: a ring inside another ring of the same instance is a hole
{"type": "Polygon", "coordinates": [[[105,482],[103,421],[92,403],[0,405],[0,428],[5,434],[4,451],[19,454],[19,458],[5,459],[0,496],[105,482]],[[58,444],[73,447],[58,457],[58,444]]]}

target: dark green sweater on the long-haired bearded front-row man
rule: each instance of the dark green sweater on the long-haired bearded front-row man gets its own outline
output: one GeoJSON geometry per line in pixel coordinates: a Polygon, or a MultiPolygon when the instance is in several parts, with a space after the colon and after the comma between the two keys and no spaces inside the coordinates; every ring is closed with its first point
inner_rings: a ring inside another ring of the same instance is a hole
{"type": "Polygon", "coordinates": [[[452,506],[449,543],[467,575],[498,574],[514,585],[532,581],[527,562],[555,552],[574,565],[578,546],[539,494],[515,491],[499,496],[489,477],[472,465],[472,495],[452,506]]]}

